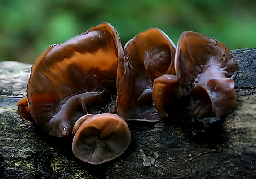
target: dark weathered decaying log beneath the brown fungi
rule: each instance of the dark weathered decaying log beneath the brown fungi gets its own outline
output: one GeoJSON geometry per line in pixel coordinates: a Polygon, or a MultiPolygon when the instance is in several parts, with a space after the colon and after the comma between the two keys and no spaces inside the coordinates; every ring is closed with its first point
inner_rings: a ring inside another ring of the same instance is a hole
{"type": "Polygon", "coordinates": [[[96,166],[74,157],[71,138],[52,137],[19,116],[31,65],[1,62],[0,178],[256,178],[256,48],[231,52],[238,103],[216,136],[195,138],[168,121],[128,122],[128,150],[96,166]]]}

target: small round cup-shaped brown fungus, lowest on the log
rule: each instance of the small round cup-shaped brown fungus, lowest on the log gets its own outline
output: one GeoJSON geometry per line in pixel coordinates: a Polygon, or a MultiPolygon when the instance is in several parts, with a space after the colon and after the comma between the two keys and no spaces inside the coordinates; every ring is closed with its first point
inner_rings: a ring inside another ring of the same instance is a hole
{"type": "Polygon", "coordinates": [[[101,164],[124,153],[130,142],[130,130],[124,119],[104,113],[91,116],[81,124],[75,133],[72,150],[84,162],[101,164]]]}

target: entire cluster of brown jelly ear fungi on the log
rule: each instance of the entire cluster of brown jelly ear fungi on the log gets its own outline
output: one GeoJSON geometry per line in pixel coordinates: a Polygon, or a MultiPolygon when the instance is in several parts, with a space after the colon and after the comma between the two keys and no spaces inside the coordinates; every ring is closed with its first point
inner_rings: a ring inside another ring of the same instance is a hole
{"type": "Polygon", "coordinates": [[[76,157],[101,164],[131,141],[126,120],[221,118],[236,106],[237,64],[221,42],[183,32],[177,47],[158,28],[121,46],[102,23],[45,49],[31,69],[22,118],[50,135],[72,136],[76,157]]]}

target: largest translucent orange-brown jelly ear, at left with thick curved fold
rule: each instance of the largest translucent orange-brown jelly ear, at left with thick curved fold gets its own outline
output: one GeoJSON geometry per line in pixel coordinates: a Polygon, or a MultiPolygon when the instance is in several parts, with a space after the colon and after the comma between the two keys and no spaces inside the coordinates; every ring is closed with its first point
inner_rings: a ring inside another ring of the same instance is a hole
{"type": "Polygon", "coordinates": [[[36,59],[28,82],[35,123],[51,135],[69,135],[80,116],[94,113],[87,111],[88,105],[106,105],[110,99],[105,94],[115,93],[122,53],[119,35],[108,23],[47,48],[36,59]]]}

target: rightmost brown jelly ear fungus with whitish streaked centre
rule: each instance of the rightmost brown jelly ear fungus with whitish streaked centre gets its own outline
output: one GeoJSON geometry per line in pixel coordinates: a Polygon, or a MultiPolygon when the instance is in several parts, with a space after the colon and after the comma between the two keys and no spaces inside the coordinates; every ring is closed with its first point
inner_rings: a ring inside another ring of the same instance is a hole
{"type": "Polygon", "coordinates": [[[188,102],[186,114],[189,117],[223,117],[235,108],[233,80],[238,68],[224,44],[206,35],[183,32],[178,41],[174,63],[177,79],[173,77],[172,80],[164,81],[161,80],[163,76],[155,79],[153,101],[157,104],[155,108],[159,114],[167,113],[164,103],[174,103],[181,96],[186,97],[184,103],[188,102]],[[160,82],[161,88],[158,87],[160,82]],[[161,93],[165,94],[163,102],[157,99],[157,94],[159,96],[161,93]],[[168,98],[168,101],[164,98],[168,98]]]}

